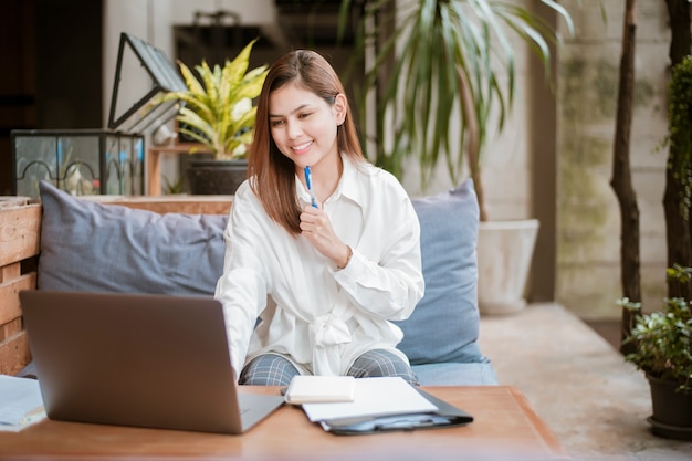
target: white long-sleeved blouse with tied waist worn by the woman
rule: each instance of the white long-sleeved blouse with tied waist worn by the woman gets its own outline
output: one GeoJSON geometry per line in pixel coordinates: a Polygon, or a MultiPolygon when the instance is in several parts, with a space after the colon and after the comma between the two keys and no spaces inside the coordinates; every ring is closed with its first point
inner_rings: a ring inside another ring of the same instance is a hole
{"type": "MultiPolygon", "coordinates": [[[[314,375],[345,375],[376,348],[408,360],[395,348],[401,329],[388,321],[407,318],[423,295],[418,217],[392,175],[345,157],[343,164],[339,184],[323,203],[334,231],[353,249],[343,270],[269,218],[248,181],[235,192],[214,296],[223,304],[237,376],[265,353],[314,375]]],[[[310,203],[297,176],[296,190],[310,203]]]]}

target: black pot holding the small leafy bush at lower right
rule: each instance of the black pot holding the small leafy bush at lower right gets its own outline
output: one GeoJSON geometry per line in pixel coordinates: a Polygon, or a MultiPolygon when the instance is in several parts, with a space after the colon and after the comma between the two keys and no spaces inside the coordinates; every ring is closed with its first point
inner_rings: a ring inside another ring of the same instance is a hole
{"type": "Polygon", "coordinates": [[[692,440],[692,392],[675,391],[679,383],[647,375],[653,415],[651,432],[678,440],[692,440]]]}

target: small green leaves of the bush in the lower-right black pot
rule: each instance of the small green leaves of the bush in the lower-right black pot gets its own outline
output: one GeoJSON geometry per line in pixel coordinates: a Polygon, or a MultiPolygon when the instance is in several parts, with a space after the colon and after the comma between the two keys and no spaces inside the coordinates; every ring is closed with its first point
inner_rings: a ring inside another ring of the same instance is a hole
{"type": "MultiPolygon", "coordinates": [[[[692,268],[675,265],[669,277],[686,283],[692,268]]],[[[639,303],[620,300],[620,305],[636,310],[639,303]]],[[[679,390],[692,391],[692,311],[681,297],[665,298],[663,310],[639,315],[630,336],[623,344],[633,343],[636,350],[626,360],[657,378],[680,385],[679,390]]]]}

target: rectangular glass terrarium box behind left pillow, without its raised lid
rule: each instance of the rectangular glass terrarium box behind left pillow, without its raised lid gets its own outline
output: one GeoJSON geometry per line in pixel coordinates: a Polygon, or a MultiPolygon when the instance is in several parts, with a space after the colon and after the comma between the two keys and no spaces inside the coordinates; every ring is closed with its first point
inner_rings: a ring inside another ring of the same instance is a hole
{"type": "Polygon", "coordinates": [[[46,180],[75,196],[144,193],[144,136],[102,129],[12,130],[13,193],[46,180]]]}

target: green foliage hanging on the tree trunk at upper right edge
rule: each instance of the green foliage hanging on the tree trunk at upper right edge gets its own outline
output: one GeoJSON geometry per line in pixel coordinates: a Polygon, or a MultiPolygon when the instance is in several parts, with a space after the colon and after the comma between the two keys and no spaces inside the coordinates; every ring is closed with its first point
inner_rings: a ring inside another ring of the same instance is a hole
{"type": "Polygon", "coordinates": [[[680,185],[680,213],[686,220],[692,202],[692,56],[673,66],[668,99],[668,168],[680,185]]]}

